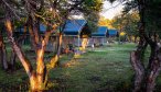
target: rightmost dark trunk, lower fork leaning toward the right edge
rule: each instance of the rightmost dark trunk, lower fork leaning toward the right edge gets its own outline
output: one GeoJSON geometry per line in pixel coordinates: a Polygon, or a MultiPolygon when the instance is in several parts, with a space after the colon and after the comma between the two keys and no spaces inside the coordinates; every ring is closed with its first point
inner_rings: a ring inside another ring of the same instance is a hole
{"type": "Polygon", "coordinates": [[[161,70],[161,50],[157,43],[151,46],[151,55],[149,59],[149,66],[147,67],[147,92],[153,92],[155,87],[155,79],[161,70]]]}

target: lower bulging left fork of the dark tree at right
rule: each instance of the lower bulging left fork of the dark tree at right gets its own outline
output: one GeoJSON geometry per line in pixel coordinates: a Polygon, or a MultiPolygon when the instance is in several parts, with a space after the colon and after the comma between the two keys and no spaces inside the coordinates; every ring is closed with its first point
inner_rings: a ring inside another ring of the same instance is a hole
{"type": "Polygon", "coordinates": [[[133,92],[139,92],[142,89],[144,81],[146,69],[143,65],[144,50],[147,48],[144,39],[140,39],[138,49],[130,54],[130,62],[135,70],[135,89],[133,92]]]}

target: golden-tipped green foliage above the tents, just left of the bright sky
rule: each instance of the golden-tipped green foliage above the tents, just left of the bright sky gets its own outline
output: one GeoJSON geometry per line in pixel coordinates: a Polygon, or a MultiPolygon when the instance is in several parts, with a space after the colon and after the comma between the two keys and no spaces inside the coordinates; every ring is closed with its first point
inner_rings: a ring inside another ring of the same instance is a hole
{"type": "Polygon", "coordinates": [[[99,12],[101,11],[103,0],[85,0],[83,2],[82,11],[84,18],[88,22],[88,27],[92,32],[97,31],[99,12]]]}

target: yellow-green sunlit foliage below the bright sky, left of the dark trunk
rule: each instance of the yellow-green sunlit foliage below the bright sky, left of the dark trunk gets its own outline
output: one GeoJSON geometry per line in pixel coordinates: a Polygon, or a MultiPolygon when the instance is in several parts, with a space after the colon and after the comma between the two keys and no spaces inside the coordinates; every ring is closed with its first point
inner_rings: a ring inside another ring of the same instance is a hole
{"type": "Polygon", "coordinates": [[[115,16],[112,26],[118,28],[120,32],[125,32],[129,36],[138,36],[138,12],[132,11],[127,14],[120,14],[115,16]]]}

